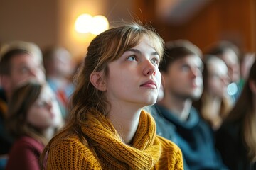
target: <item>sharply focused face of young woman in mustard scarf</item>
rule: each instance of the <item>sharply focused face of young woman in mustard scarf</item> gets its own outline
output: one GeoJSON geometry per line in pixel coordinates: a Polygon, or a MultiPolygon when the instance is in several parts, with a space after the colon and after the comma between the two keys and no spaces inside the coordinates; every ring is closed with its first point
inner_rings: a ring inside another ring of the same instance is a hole
{"type": "Polygon", "coordinates": [[[159,60],[151,41],[144,36],[137,46],[108,64],[107,100],[139,107],[154,104],[161,86],[159,60]]]}

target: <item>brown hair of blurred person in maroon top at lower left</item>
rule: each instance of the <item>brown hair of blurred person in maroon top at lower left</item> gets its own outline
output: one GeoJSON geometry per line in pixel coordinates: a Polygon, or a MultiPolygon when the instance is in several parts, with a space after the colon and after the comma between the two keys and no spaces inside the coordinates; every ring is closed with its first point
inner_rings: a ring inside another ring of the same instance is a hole
{"type": "Polygon", "coordinates": [[[43,133],[27,121],[28,109],[41,94],[43,84],[36,81],[27,81],[14,90],[8,103],[6,126],[15,139],[21,136],[33,137],[46,145],[43,133]]]}

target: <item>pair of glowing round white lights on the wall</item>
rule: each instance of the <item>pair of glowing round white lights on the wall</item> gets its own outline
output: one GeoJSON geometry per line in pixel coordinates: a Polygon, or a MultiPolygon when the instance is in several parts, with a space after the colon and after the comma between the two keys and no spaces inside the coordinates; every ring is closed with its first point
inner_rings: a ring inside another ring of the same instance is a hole
{"type": "Polygon", "coordinates": [[[78,33],[92,33],[98,35],[109,28],[109,23],[105,16],[90,16],[82,14],[75,21],[75,30],[78,33]]]}

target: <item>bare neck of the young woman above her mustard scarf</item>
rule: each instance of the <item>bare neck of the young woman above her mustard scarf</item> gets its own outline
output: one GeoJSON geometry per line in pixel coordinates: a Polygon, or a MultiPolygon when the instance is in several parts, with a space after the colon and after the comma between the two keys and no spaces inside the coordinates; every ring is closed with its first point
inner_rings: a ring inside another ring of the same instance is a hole
{"type": "Polygon", "coordinates": [[[107,118],[110,119],[110,122],[124,142],[129,144],[137,131],[142,108],[138,109],[137,107],[132,108],[127,105],[117,104],[112,106],[114,107],[107,114],[107,118]]]}

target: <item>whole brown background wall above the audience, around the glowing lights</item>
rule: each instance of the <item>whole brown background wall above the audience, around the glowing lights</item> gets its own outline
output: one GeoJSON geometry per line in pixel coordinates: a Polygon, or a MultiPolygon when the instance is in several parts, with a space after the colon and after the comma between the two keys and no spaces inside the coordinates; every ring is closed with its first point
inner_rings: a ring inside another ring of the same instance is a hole
{"type": "MultiPolygon", "coordinates": [[[[167,0],[161,0],[161,2],[167,0]]],[[[174,0],[172,0],[174,1],[174,0]]],[[[256,1],[211,0],[181,25],[159,18],[159,0],[2,0],[0,1],[0,45],[10,40],[36,42],[42,49],[67,47],[74,57],[85,56],[94,35],[74,30],[81,13],[105,15],[110,20],[132,17],[152,23],[164,40],[186,38],[201,49],[228,39],[243,50],[256,50],[256,1]]]]}

